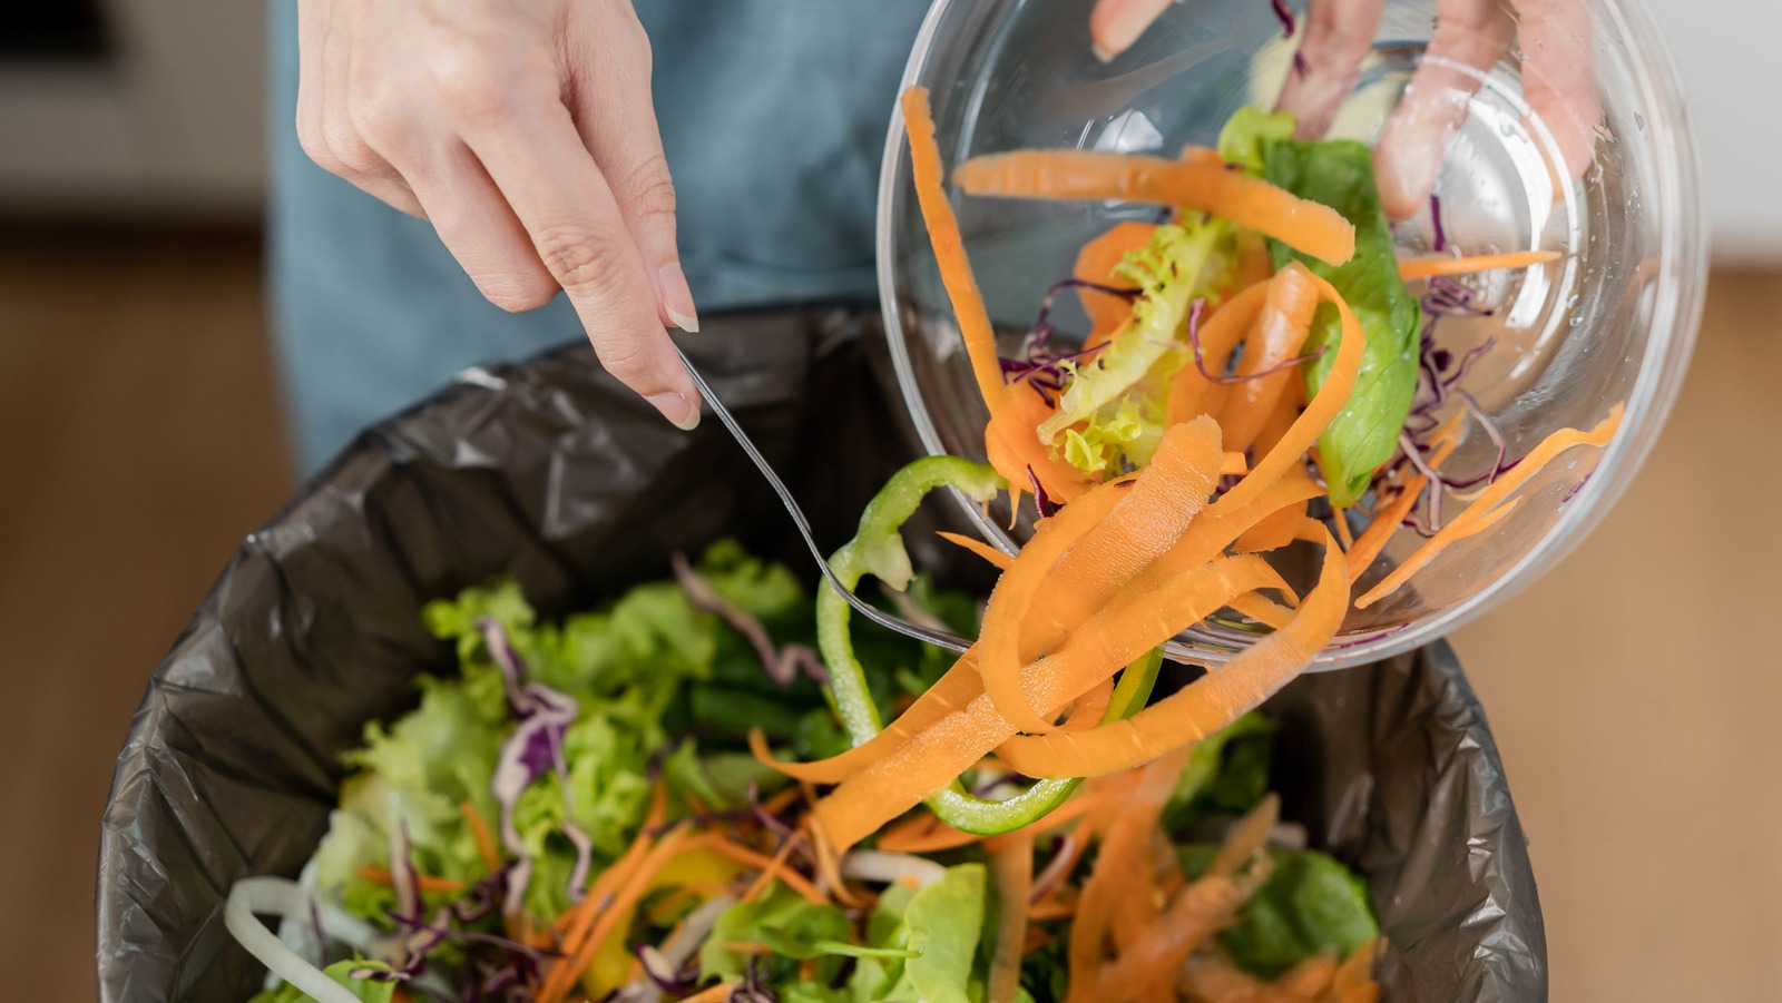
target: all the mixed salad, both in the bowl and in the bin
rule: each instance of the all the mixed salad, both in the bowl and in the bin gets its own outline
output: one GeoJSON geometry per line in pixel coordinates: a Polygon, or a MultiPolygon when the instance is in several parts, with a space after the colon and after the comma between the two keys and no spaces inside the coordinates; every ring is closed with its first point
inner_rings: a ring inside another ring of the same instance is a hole
{"type": "Polygon", "coordinates": [[[460,673],[367,729],[299,882],[232,889],[232,932],[276,976],[262,1003],[1377,998],[1365,885],[1278,820],[1256,709],[1351,606],[1616,433],[1620,404],[1508,456],[1467,387],[1490,346],[1431,333],[1481,308],[1459,276],[1550,255],[1438,235],[1399,260],[1367,148],[1294,139],[1281,114],[1242,110],[1174,159],[975,157],[952,173],[966,198],[1167,212],[1083,246],[1009,358],[927,93],[902,114],[987,463],[895,474],[830,568],[977,641],[855,632],[838,591],[807,599],[734,545],[561,624],[511,583],[429,606],[460,673]],[[1050,342],[1059,294],[1094,322],[1080,349],[1050,342]],[[1495,461],[1451,470],[1468,435],[1495,461]],[[982,609],[905,549],[941,488],[1032,499],[1016,554],[948,536],[998,572],[982,609]],[[1399,533],[1426,540],[1377,574],[1399,533]],[[1255,643],[1165,668],[1214,616],[1255,643]]]}

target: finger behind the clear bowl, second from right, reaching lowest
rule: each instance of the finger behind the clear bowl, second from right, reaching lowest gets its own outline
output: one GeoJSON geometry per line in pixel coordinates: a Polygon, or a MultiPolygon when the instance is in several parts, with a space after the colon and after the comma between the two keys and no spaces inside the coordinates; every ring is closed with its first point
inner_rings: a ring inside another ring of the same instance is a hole
{"type": "Polygon", "coordinates": [[[1499,0],[1436,0],[1436,32],[1374,146],[1386,216],[1406,219],[1429,200],[1481,75],[1509,52],[1515,32],[1499,0]]]}

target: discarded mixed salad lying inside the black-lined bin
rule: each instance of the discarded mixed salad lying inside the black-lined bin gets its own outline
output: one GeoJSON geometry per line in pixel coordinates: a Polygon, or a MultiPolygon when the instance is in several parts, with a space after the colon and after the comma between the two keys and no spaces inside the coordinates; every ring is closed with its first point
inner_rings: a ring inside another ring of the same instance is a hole
{"type": "MultiPolygon", "coordinates": [[[[905,611],[977,616],[909,584],[905,611]]],[[[458,675],[367,727],[301,882],[232,896],[276,973],[255,1003],[1372,998],[1367,885],[1278,820],[1258,713],[1069,782],[1005,832],[923,807],[843,848],[814,823],[820,787],[750,752],[850,746],[789,568],[720,542],[561,624],[501,581],[426,625],[458,675]],[[253,910],[283,914],[283,941],[253,910]]],[[[855,643],[862,704],[918,700],[946,668],[877,629],[855,643]]],[[[1146,656],[1085,713],[1132,714],[1158,668],[1146,656]]],[[[1019,782],[985,759],[960,787],[1019,782]]]]}

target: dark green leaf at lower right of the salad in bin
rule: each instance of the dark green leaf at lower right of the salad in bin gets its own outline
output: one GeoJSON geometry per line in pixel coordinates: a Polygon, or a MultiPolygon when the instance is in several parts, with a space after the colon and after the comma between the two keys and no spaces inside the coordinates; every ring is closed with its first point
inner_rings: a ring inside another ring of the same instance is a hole
{"type": "MultiPolygon", "coordinates": [[[[1215,853],[1212,844],[1181,846],[1181,868],[1199,877],[1215,853]]],[[[1238,967],[1274,978],[1322,951],[1349,955],[1379,934],[1367,882],[1340,860],[1317,850],[1269,850],[1269,884],[1219,934],[1238,967]]]]}

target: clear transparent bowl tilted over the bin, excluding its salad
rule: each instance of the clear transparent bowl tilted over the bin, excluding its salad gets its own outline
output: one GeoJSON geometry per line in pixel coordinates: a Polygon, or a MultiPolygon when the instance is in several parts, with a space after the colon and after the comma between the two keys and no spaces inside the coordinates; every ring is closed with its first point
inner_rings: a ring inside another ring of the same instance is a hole
{"type": "MultiPolygon", "coordinates": [[[[1185,143],[1214,144],[1233,110],[1272,105],[1292,64],[1292,43],[1265,0],[1173,4],[1110,64],[1091,53],[1089,9],[1089,0],[936,0],[903,86],[932,91],[948,167],[1028,146],[1173,153],[1185,143]]],[[[1552,141],[1527,119],[1509,57],[1481,78],[1438,182],[1452,244],[1468,253],[1540,248],[1563,257],[1467,276],[1493,314],[1443,319],[1436,337],[1456,351],[1497,338],[1465,387],[1495,417],[1509,456],[1554,429],[1591,428],[1614,401],[1627,403],[1620,433],[1602,453],[1566,453],[1518,490],[1522,502],[1508,518],[1449,547],[1390,599],[1351,609],[1313,668],[1427,643],[1538,577],[1622,493],[1677,397],[1707,278],[1695,144],[1675,68],[1645,9],[1636,0],[1590,0],[1590,11],[1604,123],[1584,180],[1556,191],[1552,141]]],[[[1386,2],[1331,135],[1377,135],[1433,27],[1431,0],[1386,2]]],[[[953,203],[1005,355],[1016,355],[1046,287],[1071,273],[1089,237],[1119,219],[1157,219],[1157,207],[1144,205],[957,192],[953,203]]],[[[1427,253],[1427,214],[1401,224],[1397,239],[1427,253]]],[[[982,460],[987,412],[916,207],[902,118],[891,125],[880,176],[879,280],[891,358],[923,447],[982,460]]],[[[1069,299],[1059,298],[1060,331],[1080,337],[1089,326],[1080,314],[1071,317],[1069,299]]],[[[1474,426],[1445,470],[1465,476],[1495,456],[1474,426]]],[[[1026,531],[1005,529],[1007,511],[966,510],[1003,549],[1026,531]]],[[[1418,542],[1401,531],[1386,547],[1388,563],[1418,542]]],[[[1358,591],[1383,574],[1376,563],[1358,591]]],[[[1181,634],[1171,654],[1217,665],[1251,643],[1251,631],[1214,620],[1181,634]]]]}

